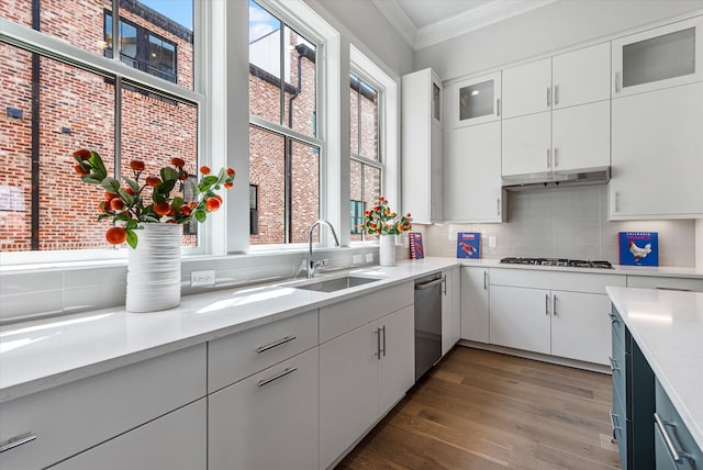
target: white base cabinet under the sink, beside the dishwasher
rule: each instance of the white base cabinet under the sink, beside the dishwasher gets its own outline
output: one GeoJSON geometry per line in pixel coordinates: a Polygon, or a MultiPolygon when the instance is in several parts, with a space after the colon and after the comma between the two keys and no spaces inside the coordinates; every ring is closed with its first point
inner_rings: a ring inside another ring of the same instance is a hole
{"type": "Polygon", "coordinates": [[[405,282],[320,309],[321,469],[344,457],[413,385],[413,299],[414,286],[405,282]]]}

